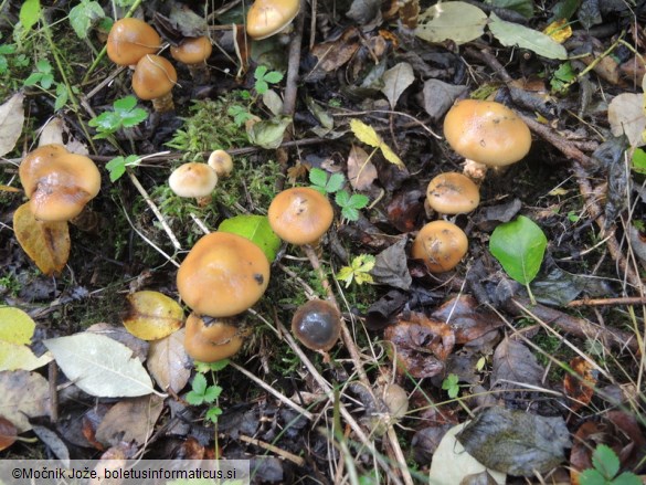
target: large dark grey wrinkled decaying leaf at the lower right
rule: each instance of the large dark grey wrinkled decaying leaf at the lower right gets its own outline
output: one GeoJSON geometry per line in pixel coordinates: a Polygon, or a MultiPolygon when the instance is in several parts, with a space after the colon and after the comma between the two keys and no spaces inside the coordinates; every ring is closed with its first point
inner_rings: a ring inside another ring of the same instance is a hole
{"type": "Polygon", "coordinates": [[[513,476],[547,473],[564,461],[570,432],[563,418],[493,407],[456,436],[483,465],[513,476]]]}

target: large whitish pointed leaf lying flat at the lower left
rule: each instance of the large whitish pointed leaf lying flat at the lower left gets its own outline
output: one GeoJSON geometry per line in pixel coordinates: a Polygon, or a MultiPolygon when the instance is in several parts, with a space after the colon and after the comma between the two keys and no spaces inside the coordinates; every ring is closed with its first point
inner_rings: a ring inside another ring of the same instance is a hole
{"type": "Polygon", "coordinates": [[[67,379],[91,396],[125,398],[155,392],[139,359],[112,338],[82,333],[51,338],[43,344],[67,379]]]}

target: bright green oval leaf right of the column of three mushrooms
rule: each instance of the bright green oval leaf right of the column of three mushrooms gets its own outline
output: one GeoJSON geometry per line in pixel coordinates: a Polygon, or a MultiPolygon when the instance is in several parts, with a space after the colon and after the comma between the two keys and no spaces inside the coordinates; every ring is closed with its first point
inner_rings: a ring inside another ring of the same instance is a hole
{"type": "Polygon", "coordinates": [[[496,228],[489,240],[494,257],[511,278],[523,285],[538,274],[547,245],[543,231],[523,215],[496,228]]]}

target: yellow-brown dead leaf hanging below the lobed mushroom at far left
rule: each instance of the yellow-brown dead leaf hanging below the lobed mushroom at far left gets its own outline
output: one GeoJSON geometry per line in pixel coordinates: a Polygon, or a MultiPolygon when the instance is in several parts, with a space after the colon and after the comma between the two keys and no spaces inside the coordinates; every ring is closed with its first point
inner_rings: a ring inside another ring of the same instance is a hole
{"type": "Polygon", "coordinates": [[[43,274],[60,273],[70,257],[67,222],[36,221],[29,205],[25,202],[13,213],[15,239],[43,274]]]}

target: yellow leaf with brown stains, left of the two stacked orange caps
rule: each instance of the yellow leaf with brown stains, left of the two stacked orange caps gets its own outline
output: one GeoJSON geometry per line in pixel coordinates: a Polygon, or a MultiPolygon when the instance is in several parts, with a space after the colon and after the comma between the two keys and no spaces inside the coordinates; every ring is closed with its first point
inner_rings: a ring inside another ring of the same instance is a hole
{"type": "Polygon", "coordinates": [[[124,317],[124,326],[135,337],[157,340],[177,331],[183,324],[182,307],[162,293],[136,292],[126,299],[128,313],[124,317]]]}

